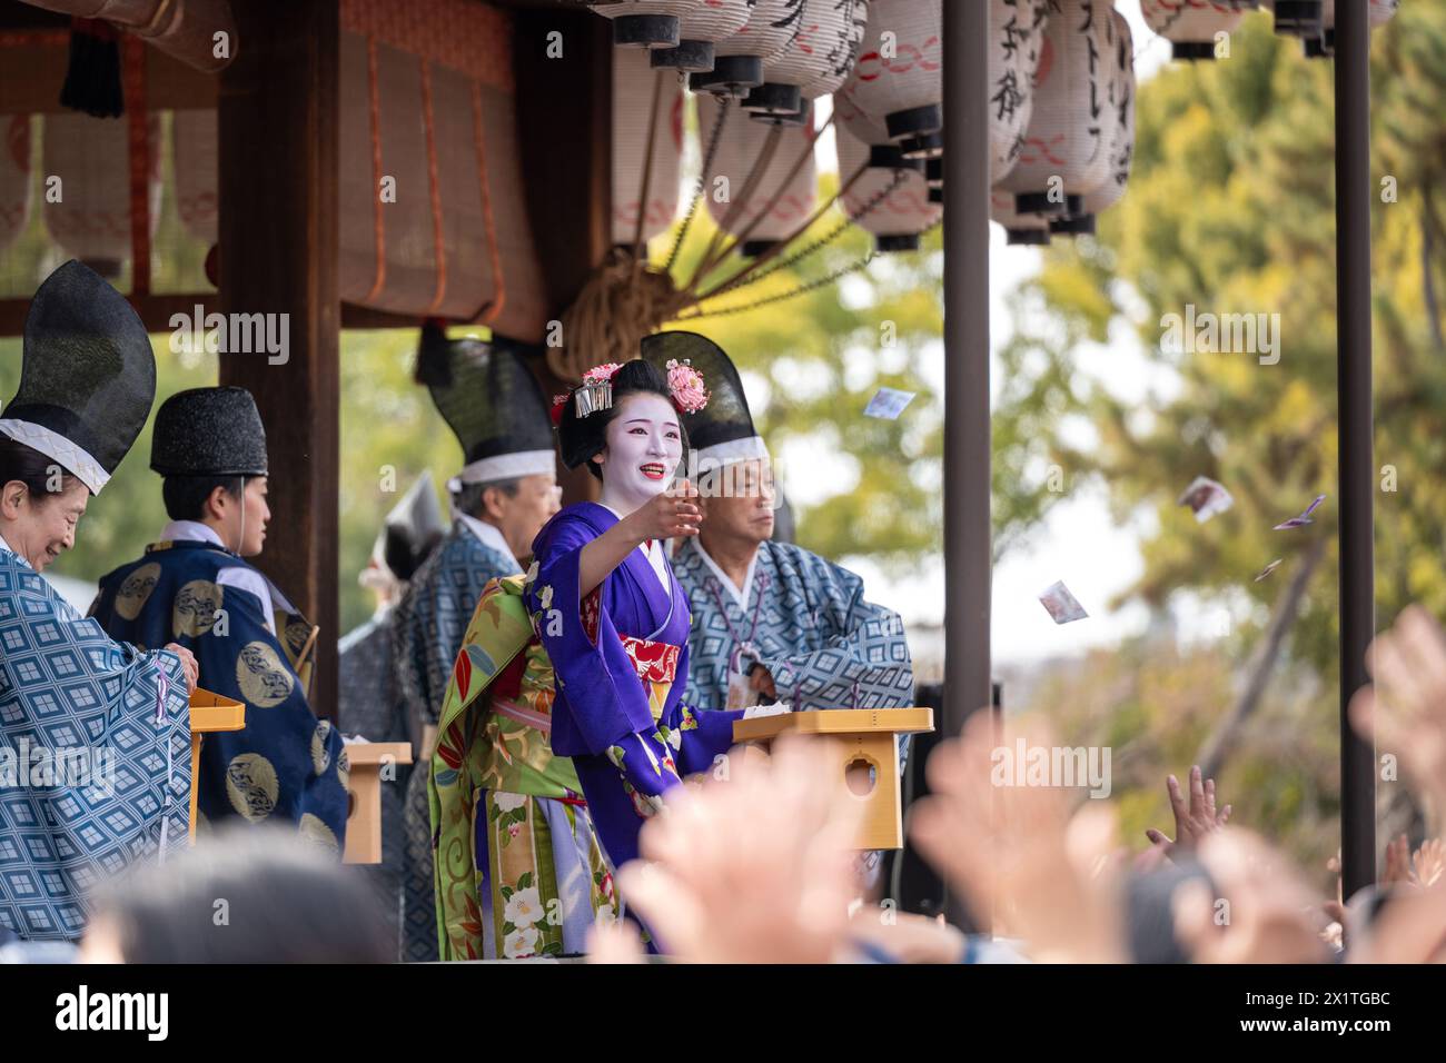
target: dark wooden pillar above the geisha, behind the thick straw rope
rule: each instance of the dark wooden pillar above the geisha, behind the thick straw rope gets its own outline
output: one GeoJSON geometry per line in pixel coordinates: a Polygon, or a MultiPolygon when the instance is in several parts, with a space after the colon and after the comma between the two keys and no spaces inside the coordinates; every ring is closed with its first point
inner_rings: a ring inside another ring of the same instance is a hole
{"type": "MultiPolygon", "coordinates": [[[[560,320],[612,239],[613,30],[589,10],[518,10],[515,19],[518,153],[548,312],[560,320]],[[548,55],[552,33],[561,56],[548,55]]],[[[541,357],[532,370],[548,398],[565,390],[541,357]]],[[[557,471],[564,505],[597,499],[586,469],[558,461],[557,471]]]]}

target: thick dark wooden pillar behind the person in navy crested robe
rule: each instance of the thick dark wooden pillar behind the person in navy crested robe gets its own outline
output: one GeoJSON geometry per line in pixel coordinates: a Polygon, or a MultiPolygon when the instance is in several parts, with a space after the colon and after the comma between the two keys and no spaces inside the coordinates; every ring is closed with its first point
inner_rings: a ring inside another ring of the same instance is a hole
{"type": "Polygon", "coordinates": [[[260,408],[272,521],[256,561],[321,626],[312,707],[334,719],[340,6],[246,0],[233,10],[236,61],[218,106],[220,308],[288,317],[282,354],[223,354],[220,382],[249,389],[260,408]]]}

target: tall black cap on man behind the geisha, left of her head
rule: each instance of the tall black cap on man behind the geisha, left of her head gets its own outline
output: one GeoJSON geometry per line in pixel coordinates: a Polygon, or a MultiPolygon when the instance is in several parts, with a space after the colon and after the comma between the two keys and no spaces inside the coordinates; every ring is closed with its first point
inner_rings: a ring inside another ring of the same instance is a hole
{"type": "Polygon", "coordinates": [[[486,483],[557,467],[552,419],[522,360],[523,350],[505,337],[450,340],[441,324],[422,325],[416,382],[427,385],[466,461],[453,483],[486,483]]]}

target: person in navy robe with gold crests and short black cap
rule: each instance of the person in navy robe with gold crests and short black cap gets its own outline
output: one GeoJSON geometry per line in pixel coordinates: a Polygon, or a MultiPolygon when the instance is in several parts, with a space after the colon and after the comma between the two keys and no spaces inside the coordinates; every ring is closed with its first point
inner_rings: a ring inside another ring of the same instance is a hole
{"type": "Polygon", "coordinates": [[[244,558],[266,538],[266,432],[244,388],[194,388],[156,412],[150,467],[171,522],[101,577],[91,615],[140,646],[179,642],[200,686],[246,704],[246,727],[201,746],[200,811],[283,821],[340,858],[347,756],[307,703],[317,628],[244,558]]]}

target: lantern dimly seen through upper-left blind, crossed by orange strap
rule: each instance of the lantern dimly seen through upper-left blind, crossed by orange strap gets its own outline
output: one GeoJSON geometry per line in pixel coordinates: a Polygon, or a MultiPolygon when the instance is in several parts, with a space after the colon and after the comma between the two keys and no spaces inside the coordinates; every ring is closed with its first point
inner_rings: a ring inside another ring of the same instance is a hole
{"type": "MultiPolygon", "coordinates": [[[[161,119],[147,121],[147,182],[140,204],[150,236],[161,220],[161,119]]],[[[132,257],[130,130],[123,119],[93,119],[75,111],[45,116],[45,176],[61,179],[61,200],[45,202],[45,227],[68,255],[103,278],[120,276],[132,257]]]]}

